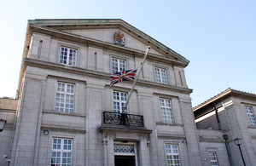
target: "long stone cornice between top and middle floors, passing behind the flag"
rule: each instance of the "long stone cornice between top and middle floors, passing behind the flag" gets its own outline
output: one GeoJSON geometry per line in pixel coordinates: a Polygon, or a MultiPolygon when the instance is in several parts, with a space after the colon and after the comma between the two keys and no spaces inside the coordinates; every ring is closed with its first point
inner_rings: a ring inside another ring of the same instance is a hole
{"type": "MultiPolygon", "coordinates": [[[[43,60],[33,60],[30,58],[25,58],[24,62],[25,62],[26,66],[37,66],[37,67],[44,68],[44,69],[51,69],[51,70],[55,70],[55,71],[76,73],[76,74],[81,74],[81,75],[87,75],[90,77],[98,77],[98,78],[102,78],[102,79],[108,79],[110,81],[110,74],[107,72],[96,72],[93,70],[83,69],[83,68],[79,68],[79,67],[75,67],[75,66],[64,66],[61,64],[56,64],[56,63],[43,61],[43,60]]],[[[182,92],[185,94],[190,94],[193,91],[192,89],[176,87],[176,86],[163,84],[163,83],[154,83],[154,82],[150,82],[148,80],[138,80],[137,84],[146,86],[146,87],[150,87],[150,88],[154,87],[157,89],[166,89],[166,90],[182,92]]]]}

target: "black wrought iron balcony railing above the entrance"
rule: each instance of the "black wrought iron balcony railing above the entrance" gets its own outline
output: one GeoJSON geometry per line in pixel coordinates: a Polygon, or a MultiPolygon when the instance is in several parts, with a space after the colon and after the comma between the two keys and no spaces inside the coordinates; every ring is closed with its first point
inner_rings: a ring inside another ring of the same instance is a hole
{"type": "Polygon", "coordinates": [[[103,123],[144,127],[143,116],[117,112],[103,112],[103,123]]]}

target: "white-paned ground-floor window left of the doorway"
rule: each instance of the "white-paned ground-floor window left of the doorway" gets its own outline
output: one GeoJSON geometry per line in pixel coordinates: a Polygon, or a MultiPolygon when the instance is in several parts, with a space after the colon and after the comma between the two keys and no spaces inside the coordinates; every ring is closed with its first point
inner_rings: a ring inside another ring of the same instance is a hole
{"type": "Polygon", "coordinates": [[[54,138],[52,140],[51,166],[72,165],[72,140],[54,138]]]}

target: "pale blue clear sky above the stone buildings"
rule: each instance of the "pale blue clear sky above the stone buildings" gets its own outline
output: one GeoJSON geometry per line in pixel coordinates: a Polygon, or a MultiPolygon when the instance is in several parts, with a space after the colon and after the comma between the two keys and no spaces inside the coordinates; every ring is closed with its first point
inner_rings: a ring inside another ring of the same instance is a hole
{"type": "Polygon", "coordinates": [[[256,94],[256,1],[16,0],[0,5],[0,97],[15,97],[27,20],[122,19],[190,60],[192,105],[224,89],[256,94]]]}

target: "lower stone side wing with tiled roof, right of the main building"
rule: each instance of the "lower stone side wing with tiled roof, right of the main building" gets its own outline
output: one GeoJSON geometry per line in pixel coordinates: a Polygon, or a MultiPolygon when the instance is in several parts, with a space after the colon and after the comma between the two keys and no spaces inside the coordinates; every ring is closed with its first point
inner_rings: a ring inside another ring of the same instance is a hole
{"type": "Polygon", "coordinates": [[[195,106],[201,157],[214,152],[219,165],[256,163],[256,94],[226,89],[211,99],[195,106]],[[241,139],[241,152],[233,140],[241,139]],[[223,141],[225,144],[223,144],[223,141]],[[228,157],[224,156],[229,154],[228,157]],[[230,164],[221,162],[229,158],[230,164]]]}

